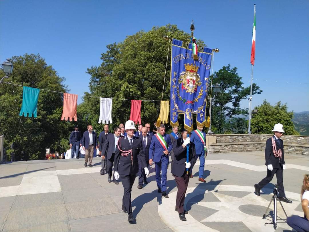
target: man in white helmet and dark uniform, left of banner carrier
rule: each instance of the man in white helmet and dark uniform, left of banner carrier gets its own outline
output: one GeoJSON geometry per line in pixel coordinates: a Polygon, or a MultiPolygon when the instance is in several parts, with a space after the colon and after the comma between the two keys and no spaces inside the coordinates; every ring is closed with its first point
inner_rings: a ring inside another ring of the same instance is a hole
{"type": "Polygon", "coordinates": [[[114,166],[114,176],[118,180],[121,178],[121,183],[123,185],[123,198],[121,209],[128,213],[128,221],[134,221],[131,206],[131,191],[138,173],[139,163],[142,165],[146,176],[148,176],[149,171],[146,166],[145,153],[143,149],[143,144],[141,138],[134,136],[134,122],[129,120],[125,123],[125,131],[127,135],[121,137],[118,141],[116,151],[115,151],[115,166],[114,166]]]}

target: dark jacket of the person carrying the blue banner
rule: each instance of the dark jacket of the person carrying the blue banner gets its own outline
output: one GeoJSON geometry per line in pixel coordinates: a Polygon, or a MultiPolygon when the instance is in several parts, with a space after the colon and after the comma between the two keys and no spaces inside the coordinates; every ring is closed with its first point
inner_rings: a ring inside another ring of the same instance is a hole
{"type": "MultiPolygon", "coordinates": [[[[181,177],[185,170],[186,165],[184,162],[187,161],[187,147],[183,148],[182,144],[184,143],[183,139],[180,138],[174,141],[173,150],[175,154],[174,164],[172,165],[171,173],[174,176],[181,177]]],[[[190,143],[189,145],[189,162],[191,163],[191,167],[196,163],[197,156],[195,153],[195,145],[194,143],[190,143]]]]}

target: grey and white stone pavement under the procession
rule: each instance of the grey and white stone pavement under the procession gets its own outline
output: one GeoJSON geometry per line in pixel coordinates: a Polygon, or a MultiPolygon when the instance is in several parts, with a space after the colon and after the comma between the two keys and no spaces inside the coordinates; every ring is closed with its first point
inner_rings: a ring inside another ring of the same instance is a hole
{"type": "MultiPolygon", "coordinates": [[[[309,173],[309,157],[286,155],[284,187],[293,204],[282,203],[288,216],[303,215],[300,186],[309,173]]],[[[254,195],[255,183],[266,175],[263,152],[209,154],[206,183],[198,182],[199,161],[193,168],[185,199],[187,221],[175,212],[177,187],[168,170],[167,193],[157,193],[154,165],[148,184],[132,191],[133,216],[129,224],[121,210],[123,187],[99,175],[100,158],[93,168],[83,159],[19,161],[0,165],[0,231],[291,231],[282,220],[277,230],[262,219],[272,199],[272,182],[254,195]]],[[[285,219],[280,204],[278,216],[285,219]]],[[[273,204],[268,214],[273,214],[273,204]]]]}

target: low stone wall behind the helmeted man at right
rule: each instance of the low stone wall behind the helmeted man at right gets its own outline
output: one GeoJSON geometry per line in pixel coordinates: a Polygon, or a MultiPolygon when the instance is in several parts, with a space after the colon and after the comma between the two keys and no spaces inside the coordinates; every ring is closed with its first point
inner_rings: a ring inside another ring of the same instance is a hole
{"type": "MultiPolygon", "coordinates": [[[[237,134],[206,135],[209,153],[265,151],[265,142],[272,135],[237,134]]],[[[309,136],[282,135],[284,152],[309,156],[309,136]]]]}

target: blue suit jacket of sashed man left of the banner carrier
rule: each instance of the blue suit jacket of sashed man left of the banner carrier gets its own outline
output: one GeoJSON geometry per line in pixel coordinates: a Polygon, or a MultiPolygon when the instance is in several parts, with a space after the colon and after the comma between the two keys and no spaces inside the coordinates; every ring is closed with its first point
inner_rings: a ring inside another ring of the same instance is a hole
{"type": "MultiPolygon", "coordinates": [[[[171,152],[173,149],[173,144],[171,141],[171,136],[168,134],[163,135],[164,140],[167,143],[167,150],[168,153],[171,152]]],[[[154,135],[152,136],[151,143],[150,143],[150,148],[149,148],[149,159],[152,159],[154,162],[159,162],[161,160],[163,153],[163,147],[160,143],[160,141],[157,139],[157,137],[154,135]]]]}

